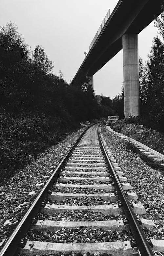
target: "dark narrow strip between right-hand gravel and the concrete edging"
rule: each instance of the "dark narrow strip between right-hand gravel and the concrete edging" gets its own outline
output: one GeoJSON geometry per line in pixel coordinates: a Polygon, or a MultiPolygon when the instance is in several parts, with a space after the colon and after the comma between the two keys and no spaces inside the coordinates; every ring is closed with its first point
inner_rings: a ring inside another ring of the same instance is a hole
{"type": "Polygon", "coordinates": [[[127,141],[126,143],[127,148],[129,148],[130,150],[132,150],[134,153],[136,153],[149,167],[152,167],[155,170],[161,171],[164,174],[164,167],[161,166],[159,163],[156,163],[153,161],[153,159],[147,157],[146,155],[144,155],[143,153],[141,153],[139,151],[139,149],[137,149],[133,143],[131,143],[130,141],[127,141]]]}

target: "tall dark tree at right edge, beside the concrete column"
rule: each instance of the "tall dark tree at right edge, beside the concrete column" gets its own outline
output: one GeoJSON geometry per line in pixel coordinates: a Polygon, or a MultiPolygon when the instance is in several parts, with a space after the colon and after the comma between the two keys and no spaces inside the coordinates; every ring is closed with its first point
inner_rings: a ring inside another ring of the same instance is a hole
{"type": "Polygon", "coordinates": [[[163,129],[164,122],[164,43],[155,37],[142,73],[140,114],[147,126],[163,129]]]}

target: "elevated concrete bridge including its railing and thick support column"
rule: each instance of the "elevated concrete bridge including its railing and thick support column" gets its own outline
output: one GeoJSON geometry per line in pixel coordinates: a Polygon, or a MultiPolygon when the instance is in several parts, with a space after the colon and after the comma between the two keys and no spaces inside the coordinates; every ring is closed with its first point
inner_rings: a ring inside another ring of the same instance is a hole
{"type": "Polygon", "coordinates": [[[105,16],[72,83],[82,70],[93,86],[93,75],[123,49],[124,114],[139,115],[138,34],[162,13],[162,2],[119,0],[105,16]]]}

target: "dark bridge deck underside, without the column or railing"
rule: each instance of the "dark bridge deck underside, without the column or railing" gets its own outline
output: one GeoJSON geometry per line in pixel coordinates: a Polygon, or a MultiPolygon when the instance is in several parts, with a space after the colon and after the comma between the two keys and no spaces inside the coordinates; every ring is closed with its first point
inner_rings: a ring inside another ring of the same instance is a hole
{"type": "Polygon", "coordinates": [[[124,34],[139,34],[162,13],[161,4],[162,0],[120,0],[80,69],[94,75],[122,49],[124,34]]]}

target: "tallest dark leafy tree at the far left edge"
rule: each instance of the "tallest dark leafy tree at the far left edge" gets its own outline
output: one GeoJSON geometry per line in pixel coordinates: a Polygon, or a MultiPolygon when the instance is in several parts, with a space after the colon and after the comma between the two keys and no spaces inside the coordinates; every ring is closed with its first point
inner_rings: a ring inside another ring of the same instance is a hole
{"type": "Polygon", "coordinates": [[[28,71],[32,68],[28,45],[11,22],[0,27],[0,55],[0,105],[19,111],[28,98],[28,71]]]}

